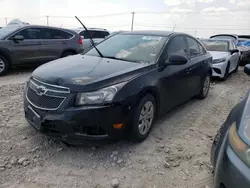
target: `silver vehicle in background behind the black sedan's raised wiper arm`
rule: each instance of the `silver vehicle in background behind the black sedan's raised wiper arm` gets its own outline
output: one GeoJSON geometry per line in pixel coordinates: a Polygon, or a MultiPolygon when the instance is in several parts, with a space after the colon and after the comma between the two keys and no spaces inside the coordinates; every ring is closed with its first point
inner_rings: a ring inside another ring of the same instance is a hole
{"type": "Polygon", "coordinates": [[[84,28],[74,29],[74,31],[77,32],[83,38],[83,45],[82,45],[83,51],[87,51],[92,47],[89,38],[89,33],[91,34],[94,44],[98,44],[108,35],[110,35],[110,33],[106,29],[100,29],[100,28],[88,28],[89,33],[84,28]]]}

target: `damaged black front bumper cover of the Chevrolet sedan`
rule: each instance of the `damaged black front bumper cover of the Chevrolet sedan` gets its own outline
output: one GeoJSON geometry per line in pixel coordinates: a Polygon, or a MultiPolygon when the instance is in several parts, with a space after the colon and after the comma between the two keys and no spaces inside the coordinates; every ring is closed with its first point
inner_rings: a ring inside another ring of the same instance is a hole
{"type": "Polygon", "coordinates": [[[121,138],[124,136],[129,111],[120,105],[70,107],[44,111],[24,100],[26,120],[40,132],[50,136],[84,139],[121,138]],[[115,129],[113,125],[123,124],[115,129]]]}

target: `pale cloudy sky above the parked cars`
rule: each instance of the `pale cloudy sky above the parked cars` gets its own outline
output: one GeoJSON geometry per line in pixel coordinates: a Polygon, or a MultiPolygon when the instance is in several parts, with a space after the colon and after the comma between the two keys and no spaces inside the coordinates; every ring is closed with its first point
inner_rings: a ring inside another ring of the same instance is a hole
{"type": "Polygon", "coordinates": [[[0,0],[0,26],[18,18],[77,28],[74,16],[79,16],[87,27],[131,30],[131,12],[134,30],[175,30],[202,38],[250,35],[250,0],[0,0]]]}

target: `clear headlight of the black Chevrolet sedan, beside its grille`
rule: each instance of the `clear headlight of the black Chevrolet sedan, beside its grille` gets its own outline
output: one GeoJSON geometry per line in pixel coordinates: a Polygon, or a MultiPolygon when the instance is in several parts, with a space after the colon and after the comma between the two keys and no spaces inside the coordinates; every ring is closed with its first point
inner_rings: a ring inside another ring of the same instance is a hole
{"type": "Polygon", "coordinates": [[[103,104],[112,102],[116,93],[126,84],[126,82],[109,86],[98,91],[78,93],[76,96],[76,105],[103,104]]]}

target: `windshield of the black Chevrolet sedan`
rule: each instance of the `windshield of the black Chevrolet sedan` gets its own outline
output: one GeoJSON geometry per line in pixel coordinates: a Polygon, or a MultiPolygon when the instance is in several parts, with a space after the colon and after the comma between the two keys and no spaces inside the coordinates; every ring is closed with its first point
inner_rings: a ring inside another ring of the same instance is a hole
{"type": "MultiPolygon", "coordinates": [[[[154,62],[167,37],[117,34],[97,45],[104,57],[134,62],[154,62]]],[[[86,55],[99,56],[92,48],[86,55]]]]}

